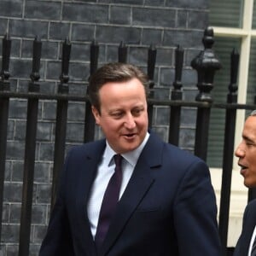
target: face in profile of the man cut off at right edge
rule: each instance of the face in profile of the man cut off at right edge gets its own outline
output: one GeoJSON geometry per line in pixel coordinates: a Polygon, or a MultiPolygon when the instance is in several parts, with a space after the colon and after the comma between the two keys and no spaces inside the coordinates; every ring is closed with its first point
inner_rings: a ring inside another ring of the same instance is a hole
{"type": "Polygon", "coordinates": [[[242,131],[242,140],[236,148],[241,175],[247,188],[256,187],[256,116],[249,116],[242,131]]]}

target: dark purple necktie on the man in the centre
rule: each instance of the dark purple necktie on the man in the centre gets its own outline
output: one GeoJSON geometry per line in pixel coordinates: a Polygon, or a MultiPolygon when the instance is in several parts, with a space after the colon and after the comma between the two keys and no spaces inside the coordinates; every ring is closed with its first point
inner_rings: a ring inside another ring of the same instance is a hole
{"type": "Polygon", "coordinates": [[[123,157],[120,154],[115,154],[113,156],[115,168],[113,176],[110,178],[108,187],[103,196],[102,207],[96,229],[95,242],[97,248],[102,246],[102,241],[108,232],[111,218],[113,217],[113,213],[115,212],[119,201],[119,190],[122,182],[122,159],[123,157]]]}

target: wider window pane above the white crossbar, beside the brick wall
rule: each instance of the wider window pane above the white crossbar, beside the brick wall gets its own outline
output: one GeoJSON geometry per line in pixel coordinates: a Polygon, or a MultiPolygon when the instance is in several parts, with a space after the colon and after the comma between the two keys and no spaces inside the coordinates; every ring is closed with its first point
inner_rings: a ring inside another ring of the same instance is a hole
{"type": "Polygon", "coordinates": [[[241,27],[242,0],[210,1],[209,21],[211,26],[241,27]]]}

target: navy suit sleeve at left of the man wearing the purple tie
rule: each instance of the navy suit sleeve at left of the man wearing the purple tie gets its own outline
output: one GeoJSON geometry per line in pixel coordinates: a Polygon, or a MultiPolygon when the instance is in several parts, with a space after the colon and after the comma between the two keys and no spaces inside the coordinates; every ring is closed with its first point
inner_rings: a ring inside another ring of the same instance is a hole
{"type": "Polygon", "coordinates": [[[61,183],[55,206],[50,214],[49,226],[42,242],[39,256],[74,255],[71,231],[65,207],[65,173],[67,160],[61,174],[61,183]]]}

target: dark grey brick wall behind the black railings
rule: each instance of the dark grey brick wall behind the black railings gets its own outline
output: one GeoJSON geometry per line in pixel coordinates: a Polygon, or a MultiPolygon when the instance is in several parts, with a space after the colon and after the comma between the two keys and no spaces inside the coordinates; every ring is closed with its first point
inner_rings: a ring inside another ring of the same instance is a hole
{"type": "MultiPolygon", "coordinates": [[[[174,79],[177,44],[184,49],[183,97],[194,100],[197,76],[190,61],[202,49],[207,26],[207,0],[95,0],[30,1],[0,0],[0,39],[6,32],[12,39],[10,60],[11,90],[27,91],[32,73],[32,42],[42,43],[40,88],[54,94],[61,74],[61,47],[72,44],[69,68],[70,94],[84,94],[90,73],[90,43],[100,46],[99,66],[118,60],[118,46],[128,46],[128,62],[146,70],[148,47],[157,49],[154,96],[169,99],[174,79]]],[[[2,40],[0,42],[2,48],[2,40]]],[[[49,221],[49,198],[55,140],[55,102],[40,101],[32,207],[31,253],[37,255],[49,221]]],[[[153,127],[168,137],[169,109],[154,108],[153,127]]],[[[182,112],[180,147],[192,150],[195,136],[195,109],[182,112]]],[[[12,100],[9,110],[8,148],[4,185],[1,253],[17,255],[23,158],[26,132],[26,100],[12,100]]],[[[83,142],[84,103],[68,107],[67,148],[83,142]]],[[[100,132],[96,132],[99,137],[100,132]]]]}

